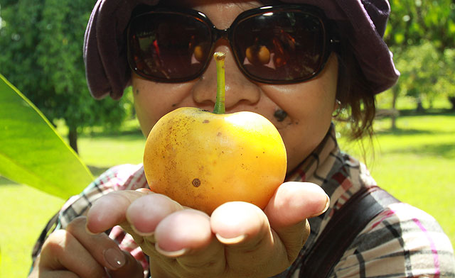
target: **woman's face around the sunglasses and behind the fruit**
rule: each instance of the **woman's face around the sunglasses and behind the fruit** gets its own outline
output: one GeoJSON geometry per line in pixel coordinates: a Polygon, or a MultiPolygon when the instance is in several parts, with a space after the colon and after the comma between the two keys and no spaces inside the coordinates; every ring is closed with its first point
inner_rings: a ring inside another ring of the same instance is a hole
{"type": "MultiPolygon", "coordinates": [[[[218,29],[225,29],[239,13],[257,6],[258,1],[168,0],[205,13],[218,29]]],[[[338,60],[332,53],[324,70],[314,79],[298,84],[263,84],[253,82],[235,64],[228,41],[218,40],[215,51],[226,53],[226,113],[252,111],[274,123],[284,140],[288,172],[304,160],[326,135],[331,115],[336,109],[338,60]],[[277,111],[287,116],[277,118],[277,111]],[[283,113],[282,113],[283,114],[283,113]]],[[[213,110],[216,96],[215,61],[204,74],[191,82],[178,84],[151,82],[132,77],[134,105],[144,135],[166,113],[184,106],[213,110]]]]}

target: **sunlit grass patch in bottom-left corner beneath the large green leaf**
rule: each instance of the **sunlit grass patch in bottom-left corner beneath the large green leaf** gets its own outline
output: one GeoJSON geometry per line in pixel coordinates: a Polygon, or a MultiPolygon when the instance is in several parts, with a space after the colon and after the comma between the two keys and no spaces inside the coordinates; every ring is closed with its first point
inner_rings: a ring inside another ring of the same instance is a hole
{"type": "Polygon", "coordinates": [[[33,245],[63,202],[0,177],[0,277],[28,275],[33,245]]]}

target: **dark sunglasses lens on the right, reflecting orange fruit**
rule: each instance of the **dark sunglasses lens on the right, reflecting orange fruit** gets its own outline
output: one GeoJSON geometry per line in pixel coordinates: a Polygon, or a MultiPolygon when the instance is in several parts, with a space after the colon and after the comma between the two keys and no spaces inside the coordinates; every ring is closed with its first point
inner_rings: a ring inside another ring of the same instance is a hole
{"type": "Polygon", "coordinates": [[[245,72],[266,82],[309,79],[323,65],[323,23],[308,13],[277,11],[246,18],[233,40],[245,72]]]}

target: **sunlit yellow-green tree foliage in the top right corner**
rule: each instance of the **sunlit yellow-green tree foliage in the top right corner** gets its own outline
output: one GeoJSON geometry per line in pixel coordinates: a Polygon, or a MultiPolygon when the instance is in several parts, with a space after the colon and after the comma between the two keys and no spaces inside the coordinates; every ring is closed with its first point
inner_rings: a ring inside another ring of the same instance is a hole
{"type": "Polygon", "coordinates": [[[392,48],[397,68],[402,72],[397,87],[390,90],[392,109],[400,94],[416,97],[417,109],[422,109],[419,101],[422,98],[427,98],[431,104],[435,94],[449,96],[442,85],[439,89],[436,85],[438,82],[444,84],[454,76],[444,71],[447,66],[444,50],[455,45],[455,2],[390,0],[390,6],[392,13],[385,41],[392,48]],[[426,50],[429,52],[424,52],[426,50]]]}

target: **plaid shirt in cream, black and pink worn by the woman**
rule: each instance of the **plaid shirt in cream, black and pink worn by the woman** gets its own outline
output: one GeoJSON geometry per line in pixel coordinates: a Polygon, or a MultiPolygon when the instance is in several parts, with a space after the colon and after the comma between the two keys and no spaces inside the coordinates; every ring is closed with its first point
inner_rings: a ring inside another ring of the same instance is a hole
{"type": "MultiPolygon", "coordinates": [[[[376,184],[365,165],[339,150],[333,126],[319,147],[288,175],[287,181],[319,184],[331,198],[328,211],[309,220],[311,234],[300,256],[311,248],[333,213],[350,196],[361,187],[376,184]]],[[[142,165],[120,165],[107,170],[80,195],[70,198],[49,221],[33,250],[33,261],[53,230],[65,228],[73,218],[86,213],[100,196],[143,187],[147,183],[142,165]]],[[[120,248],[141,262],[144,277],[149,277],[149,257],[132,236],[119,226],[107,233],[120,248]]],[[[299,266],[290,267],[276,277],[299,277],[299,266]]],[[[357,235],[331,277],[455,277],[454,251],[432,216],[409,204],[391,204],[357,235]]]]}

